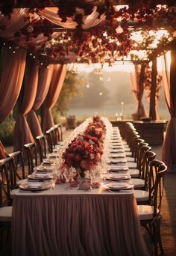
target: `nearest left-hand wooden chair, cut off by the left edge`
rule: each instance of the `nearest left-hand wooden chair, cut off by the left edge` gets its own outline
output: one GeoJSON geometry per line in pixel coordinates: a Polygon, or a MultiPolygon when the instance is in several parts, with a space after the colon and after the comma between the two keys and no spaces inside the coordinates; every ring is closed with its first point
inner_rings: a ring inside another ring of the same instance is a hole
{"type": "Polygon", "coordinates": [[[13,167],[13,160],[10,157],[0,160],[0,249],[3,243],[7,244],[10,240],[12,218],[10,189],[14,187],[13,167]]]}

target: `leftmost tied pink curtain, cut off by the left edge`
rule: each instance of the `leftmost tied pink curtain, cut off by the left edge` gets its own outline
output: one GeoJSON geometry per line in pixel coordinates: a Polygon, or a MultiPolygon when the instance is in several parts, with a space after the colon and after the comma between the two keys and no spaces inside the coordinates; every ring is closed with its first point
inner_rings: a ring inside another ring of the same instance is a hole
{"type": "MultiPolygon", "coordinates": [[[[19,97],[25,73],[26,51],[16,49],[13,53],[10,49],[3,47],[1,60],[3,60],[3,68],[0,81],[0,124],[10,115],[19,97]]],[[[0,143],[0,158],[6,156],[7,153],[0,143]]]]}

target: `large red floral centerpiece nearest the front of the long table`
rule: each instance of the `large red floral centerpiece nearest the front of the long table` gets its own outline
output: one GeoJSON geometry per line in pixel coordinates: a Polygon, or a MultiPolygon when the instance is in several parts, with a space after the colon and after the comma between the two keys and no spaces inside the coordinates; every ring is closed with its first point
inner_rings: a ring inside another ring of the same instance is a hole
{"type": "Polygon", "coordinates": [[[69,168],[74,167],[81,177],[91,165],[95,165],[101,157],[101,150],[97,146],[96,138],[78,135],[63,153],[64,164],[69,168]]]}

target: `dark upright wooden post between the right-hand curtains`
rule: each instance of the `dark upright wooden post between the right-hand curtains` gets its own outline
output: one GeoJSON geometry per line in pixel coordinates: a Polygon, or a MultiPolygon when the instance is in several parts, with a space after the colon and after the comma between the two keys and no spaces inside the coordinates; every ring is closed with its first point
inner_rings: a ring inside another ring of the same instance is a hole
{"type": "Polygon", "coordinates": [[[149,110],[149,117],[151,120],[156,119],[156,88],[157,88],[157,58],[154,58],[152,61],[152,70],[151,70],[151,97],[150,97],[150,110],[149,110]]]}

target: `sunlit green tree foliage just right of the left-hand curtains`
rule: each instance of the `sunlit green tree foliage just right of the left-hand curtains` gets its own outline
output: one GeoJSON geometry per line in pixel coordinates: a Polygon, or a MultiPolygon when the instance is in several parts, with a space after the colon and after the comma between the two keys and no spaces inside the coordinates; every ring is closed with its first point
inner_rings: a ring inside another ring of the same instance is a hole
{"type": "Polygon", "coordinates": [[[83,86],[83,80],[78,78],[76,73],[67,71],[66,79],[63,83],[63,88],[60,92],[60,97],[52,110],[54,121],[57,123],[60,115],[64,115],[72,97],[80,95],[79,87],[83,86]]]}

